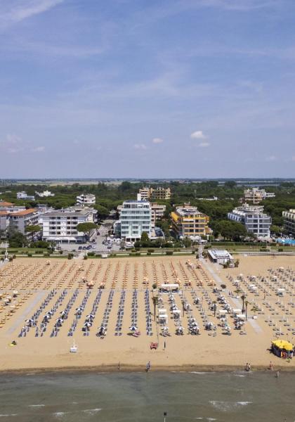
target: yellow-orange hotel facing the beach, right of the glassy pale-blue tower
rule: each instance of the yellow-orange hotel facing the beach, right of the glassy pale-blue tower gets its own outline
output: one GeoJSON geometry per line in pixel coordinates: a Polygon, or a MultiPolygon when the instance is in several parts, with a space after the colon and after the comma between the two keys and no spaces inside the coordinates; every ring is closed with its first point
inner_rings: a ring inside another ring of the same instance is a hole
{"type": "Polygon", "coordinates": [[[176,211],[171,212],[171,217],[173,230],[178,236],[204,236],[211,232],[208,215],[200,212],[197,207],[188,204],[176,207],[176,211]]]}

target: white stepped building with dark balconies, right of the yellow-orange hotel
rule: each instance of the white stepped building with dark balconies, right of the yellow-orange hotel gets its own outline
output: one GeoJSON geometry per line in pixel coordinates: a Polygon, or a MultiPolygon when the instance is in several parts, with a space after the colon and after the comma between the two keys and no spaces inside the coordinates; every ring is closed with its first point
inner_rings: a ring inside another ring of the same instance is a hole
{"type": "Polygon", "coordinates": [[[244,224],[249,233],[257,237],[270,237],[272,219],[263,213],[263,207],[243,204],[228,212],[228,219],[244,224]]]}

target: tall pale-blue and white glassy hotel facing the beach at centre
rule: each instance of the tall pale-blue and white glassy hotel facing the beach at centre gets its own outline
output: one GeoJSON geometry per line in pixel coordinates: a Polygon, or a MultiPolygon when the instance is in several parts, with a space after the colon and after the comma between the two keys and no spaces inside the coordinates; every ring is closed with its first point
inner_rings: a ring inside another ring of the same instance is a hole
{"type": "Polygon", "coordinates": [[[126,241],[137,241],[143,231],[150,237],[152,212],[145,200],[126,200],[121,210],[121,237],[126,241]]]}

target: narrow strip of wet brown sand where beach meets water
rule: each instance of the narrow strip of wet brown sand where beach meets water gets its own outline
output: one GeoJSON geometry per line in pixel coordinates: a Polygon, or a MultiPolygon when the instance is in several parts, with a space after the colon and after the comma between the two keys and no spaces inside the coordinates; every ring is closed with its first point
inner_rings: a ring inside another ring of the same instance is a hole
{"type": "MultiPolygon", "coordinates": [[[[268,372],[276,373],[276,371],[293,373],[295,372],[294,366],[282,366],[275,365],[275,369],[270,371],[268,366],[257,365],[251,367],[251,372],[268,372]]],[[[56,374],[56,373],[145,373],[145,366],[143,365],[124,365],[120,364],[120,369],[117,365],[100,365],[100,366],[56,366],[48,368],[20,368],[20,369],[1,369],[0,376],[4,375],[45,375],[45,374],[56,374]]],[[[233,373],[242,372],[247,373],[244,370],[244,366],[237,365],[183,365],[183,366],[161,366],[152,365],[149,372],[175,372],[175,373],[233,373]]]]}

